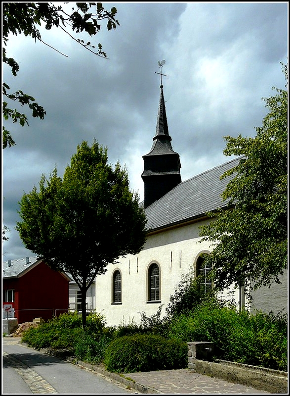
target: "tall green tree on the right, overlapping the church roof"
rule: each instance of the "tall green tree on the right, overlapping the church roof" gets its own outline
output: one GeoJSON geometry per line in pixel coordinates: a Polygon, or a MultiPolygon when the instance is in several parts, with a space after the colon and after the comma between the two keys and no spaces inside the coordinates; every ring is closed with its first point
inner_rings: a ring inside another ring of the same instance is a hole
{"type": "MultiPolygon", "coordinates": [[[[282,64],[288,86],[288,66],[282,64]]],[[[201,227],[213,251],[205,260],[213,267],[217,288],[245,285],[248,293],[281,283],[288,253],[288,92],[276,89],[265,100],[269,112],[254,138],[225,137],[225,155],[242,155],[239,165],[222,175],[235,177],[223,200],[227,210],[209,213],[214,221],[201,227]]]]}

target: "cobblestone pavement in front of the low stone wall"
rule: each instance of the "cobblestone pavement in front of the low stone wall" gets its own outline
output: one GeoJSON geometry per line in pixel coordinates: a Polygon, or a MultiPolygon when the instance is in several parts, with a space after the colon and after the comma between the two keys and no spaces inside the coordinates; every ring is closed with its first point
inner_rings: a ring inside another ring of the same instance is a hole
{"type": "Polygon", "coordinates": [[[129,373],[125,374],[125,378],[130,378],[145,388],[149,387],[154,393],[162,394],[269,394],[245,385],[198,374],[190,369],[129,373]]]}

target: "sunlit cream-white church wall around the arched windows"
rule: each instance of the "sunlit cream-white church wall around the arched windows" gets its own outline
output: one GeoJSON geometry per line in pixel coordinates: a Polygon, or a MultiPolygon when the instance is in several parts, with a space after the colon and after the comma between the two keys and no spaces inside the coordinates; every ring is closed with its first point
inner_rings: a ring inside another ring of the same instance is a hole
{"type": "MultiPolygon", "coordinates": [[[[200,243],[199,228],[203,223],[195,223],[148,237],[143,250],[136,255],[119,259],[118,264],[109,264],[107,272],[96,277],[96,312],[105,315],[108,326],[134,321],[140,324],[141,315],[151,316],[160,304],[162,316],[174,293],[181,275],[188,273],[201,252],[210,251],[207,242],[200,243]],[[147,270],[152,261],[161,268],[161,302],[147,302],[147,270]],[[121,272],[122,303],[112,304],[112,275],[116,269],[121,272]]],[[[224,294],[224,297],[225,294],[224,294]]],[[[238,301],[239,291],[233,292],[238,301]]]]}

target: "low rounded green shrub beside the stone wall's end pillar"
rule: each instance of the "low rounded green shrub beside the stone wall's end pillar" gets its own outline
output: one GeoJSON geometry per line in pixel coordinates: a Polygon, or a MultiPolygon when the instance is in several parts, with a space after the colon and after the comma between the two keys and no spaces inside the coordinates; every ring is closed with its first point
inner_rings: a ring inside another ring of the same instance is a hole
{"type": "Polygon", "coordinates": [[[109,344],[104,364],[108,371],[123,373],[184,368],[187,345],[158,335],[124,336],[109,344]]]}

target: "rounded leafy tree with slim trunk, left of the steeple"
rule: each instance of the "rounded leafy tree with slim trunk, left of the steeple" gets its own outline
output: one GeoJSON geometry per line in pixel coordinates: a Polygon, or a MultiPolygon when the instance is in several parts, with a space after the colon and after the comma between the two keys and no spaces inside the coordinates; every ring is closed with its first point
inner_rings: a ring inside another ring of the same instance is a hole
{"type": "Polygon", "coordinates": [[[72,275],[81,290],[83,327],[86,291],[96,275],[118,257],[138,253],[146,238],[144,209],[129,190],[126,169],[107,161],[106,148],[82,142],[63,179],[54,168],[49,180],[42,175],[39,192],[34,187],[22,196],[15,227],[25,247],[72,275]]]}

